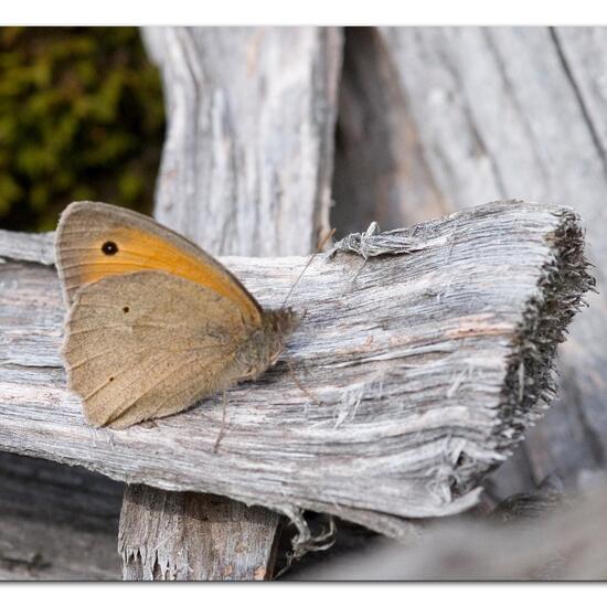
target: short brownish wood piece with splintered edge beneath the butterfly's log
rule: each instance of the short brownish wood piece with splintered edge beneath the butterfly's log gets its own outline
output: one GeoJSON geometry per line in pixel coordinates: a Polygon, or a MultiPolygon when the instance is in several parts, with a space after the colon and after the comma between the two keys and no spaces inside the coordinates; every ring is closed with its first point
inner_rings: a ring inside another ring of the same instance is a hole
{"type": "Polygon", "coordinates": [[[205,579],[271,577],[275,526],[280,528],[276,512],[145,484],[129,484],[126,500],[118,540],[127,553],[125,579],[196,579],[201,573],[205,579]]]}

